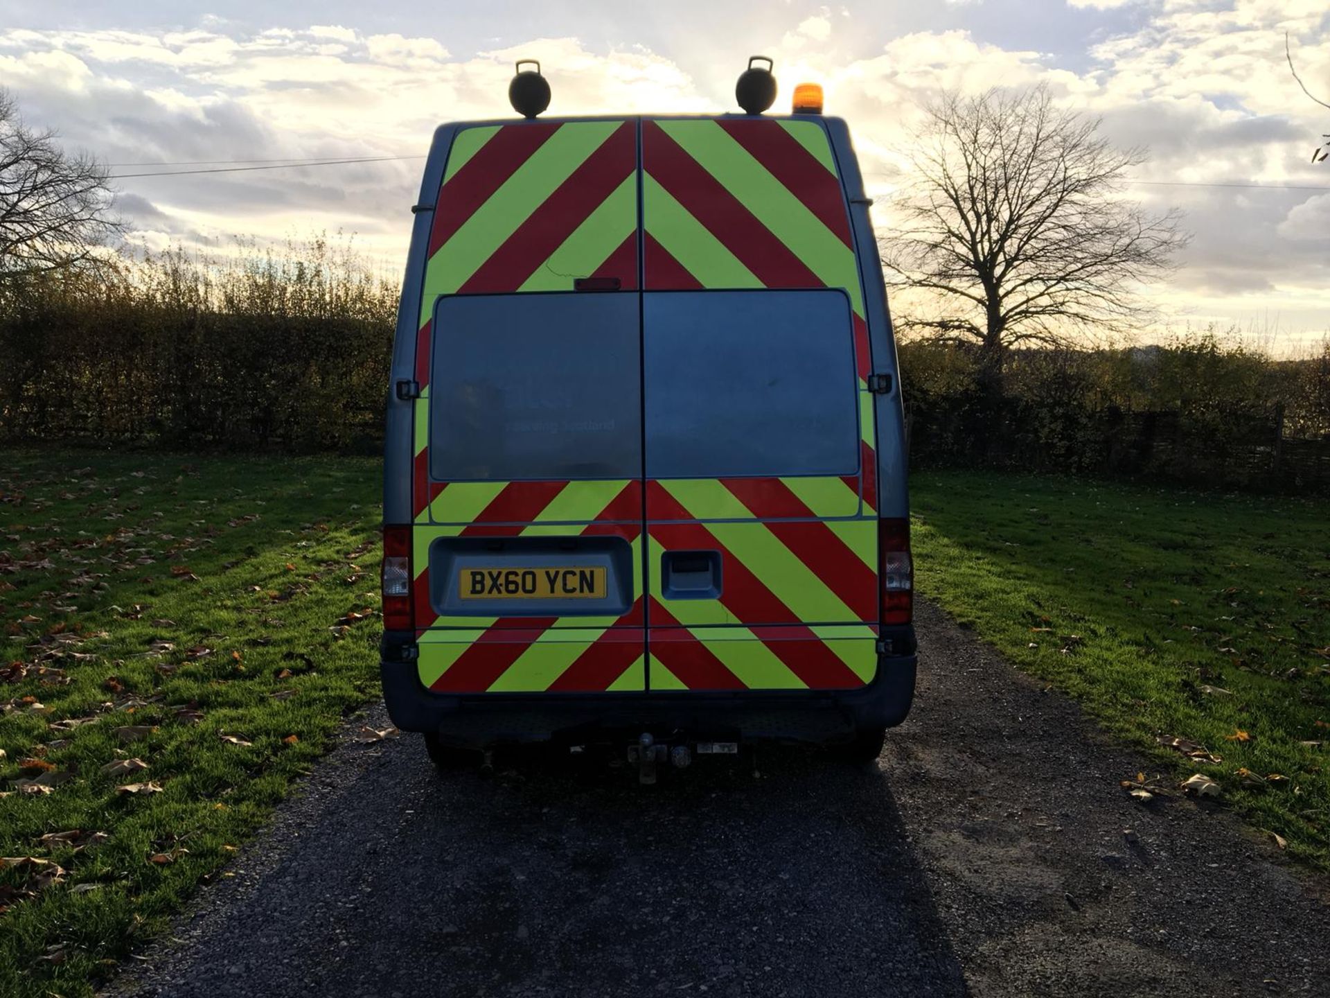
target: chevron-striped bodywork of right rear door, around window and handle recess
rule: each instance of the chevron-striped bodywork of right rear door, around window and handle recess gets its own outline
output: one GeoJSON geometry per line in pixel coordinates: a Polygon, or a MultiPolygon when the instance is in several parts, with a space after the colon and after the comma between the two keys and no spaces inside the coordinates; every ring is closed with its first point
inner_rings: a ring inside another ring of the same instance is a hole
{"type": "Polygon", "coordinates": [[[642,121],[646,297],[842,290],[859,443],[854,474],[652,478],[648,430],[650,689],[847,689],[875,676],[874,369],[849,208],[818,120],[642,121]],[[662,566],[681,551],[718,552],[714,593],[670,597],[662,566]]]}

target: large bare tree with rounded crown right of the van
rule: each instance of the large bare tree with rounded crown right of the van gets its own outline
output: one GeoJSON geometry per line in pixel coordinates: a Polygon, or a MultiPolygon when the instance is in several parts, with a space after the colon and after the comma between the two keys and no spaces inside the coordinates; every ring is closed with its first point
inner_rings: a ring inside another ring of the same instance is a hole
{"type": "Polygon", "coordinates": [[[890,283],[939,303],[898,327],[978,346],[987,386],[1000,390],[1017,343],[1136,325],[1137,286],[1186,240],[1177,213],[1120,197],[1144,153],[1113,149],[1099,121],[1055,106],[1044,86],[950,93],[926,112],[908,153],[916,181],[880,249],[890,283]]]}

